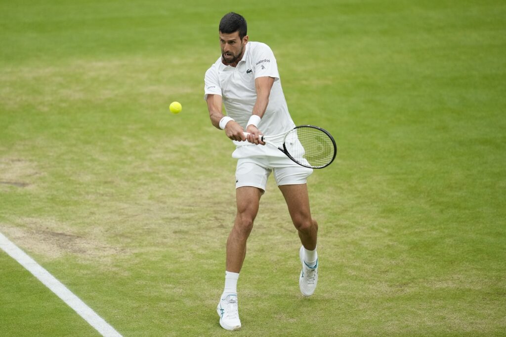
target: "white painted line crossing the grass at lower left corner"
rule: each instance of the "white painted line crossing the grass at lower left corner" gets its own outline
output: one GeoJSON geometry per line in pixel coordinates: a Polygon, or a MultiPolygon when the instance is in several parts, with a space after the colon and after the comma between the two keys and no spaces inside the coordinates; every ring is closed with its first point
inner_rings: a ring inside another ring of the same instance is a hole
{"type": "Polygon", "coordinates": [[[75,296],[62,282],[57,280],[46,269],[41,267],[18,246],[13,244],[4,234],[0,233],[0,248],[18,261],[23,267],[33,274],[38,280],[46,285],[53,293],[63,300],[70,308],[84,318],[103,336],[116,337],[121,335],[109,323],[102,319],[92,308],[75,296]]]}

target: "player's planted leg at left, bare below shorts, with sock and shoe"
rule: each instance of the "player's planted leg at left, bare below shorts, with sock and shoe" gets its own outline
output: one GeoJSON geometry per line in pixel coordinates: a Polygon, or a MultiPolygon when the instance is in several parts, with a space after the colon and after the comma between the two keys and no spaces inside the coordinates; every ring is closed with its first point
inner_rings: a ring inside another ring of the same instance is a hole
{"type": "Polygon", "coordinates": [[[227,330],[241,328],[237,306],[237,279],[246,256],[246,241],[257,216],[263,190],[243,186],[236,189],[237,215],[227,240],[227,271],[225,289],[217,312],[220,325],[227,330]]]}

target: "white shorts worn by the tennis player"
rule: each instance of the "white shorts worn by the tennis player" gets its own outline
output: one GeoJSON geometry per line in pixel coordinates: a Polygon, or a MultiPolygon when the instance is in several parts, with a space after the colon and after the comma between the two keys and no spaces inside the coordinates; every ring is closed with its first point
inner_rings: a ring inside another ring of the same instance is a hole
{"type": "Polygon", "coordinates": [[[305,184],[313,169],[300,166],[288,157],[251,157],[237,160],[235,188],[258,187],[265,191],[267,178],[274,172],[276,184],[305,184]]]}

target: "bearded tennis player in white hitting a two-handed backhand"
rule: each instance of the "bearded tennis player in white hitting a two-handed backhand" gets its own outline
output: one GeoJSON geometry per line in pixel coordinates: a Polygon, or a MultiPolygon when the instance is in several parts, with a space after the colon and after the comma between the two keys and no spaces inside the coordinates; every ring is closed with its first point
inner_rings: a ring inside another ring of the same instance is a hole
{"type": "MultiPolygon", "coordinates": [[[[221,19],[219,35],[221,56],[205,73],[204,98],[213,125],[224,130],[237,146],[232,154],[237,159],[237,215],[227,240],[225,288],[217,311],[223,328],[238,330],[237,280],[271,172],[302,243],[299,285],[304,296],[314,293],[318,281],[318,224],[311,217],[306,185],[313,170],[297,165],[259,139],[259,135],[282,134],[295,127],[272,50],[265,43],[248,41],[246,20],[236,13],[221,19]]],[[[282,143],[282,139],[278,140],[282,143]]]]}

